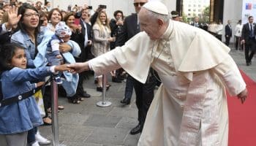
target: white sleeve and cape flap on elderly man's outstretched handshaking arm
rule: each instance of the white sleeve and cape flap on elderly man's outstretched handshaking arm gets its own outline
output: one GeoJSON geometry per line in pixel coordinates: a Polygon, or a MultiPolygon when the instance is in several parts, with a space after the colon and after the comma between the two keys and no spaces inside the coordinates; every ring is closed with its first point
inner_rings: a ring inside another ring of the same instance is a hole
{"type": "Polygon", "coordinates": [[[97,75],[123,68],[136,80],[145,83],[151,65],[151,48],[154,42],[145,32],[129,39],[122,47],[116,47],[108,53],[89,61],[90,69],[97,75]]]}

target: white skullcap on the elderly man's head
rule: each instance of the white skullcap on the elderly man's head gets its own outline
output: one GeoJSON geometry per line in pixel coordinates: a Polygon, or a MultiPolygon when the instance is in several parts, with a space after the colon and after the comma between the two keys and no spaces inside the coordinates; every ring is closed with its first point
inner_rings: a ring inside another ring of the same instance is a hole
{"type": "Polygon", "coordinates": [[[148,1],[143,5],[144,8],[151,10],[152,12],[157,12],[158,14],[168,15],[168,9],[165,4],[160,1],[148,1]]]}

